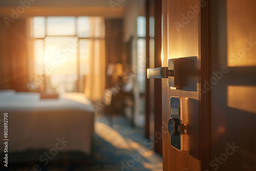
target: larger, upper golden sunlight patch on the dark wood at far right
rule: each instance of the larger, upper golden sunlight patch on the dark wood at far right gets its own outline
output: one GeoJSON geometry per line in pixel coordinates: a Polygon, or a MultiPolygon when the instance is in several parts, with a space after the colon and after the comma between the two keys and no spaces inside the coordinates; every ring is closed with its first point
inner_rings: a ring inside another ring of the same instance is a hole
{"type": "MultiPolygon", "coordinates": [[[[233,1],[229,0],[229,8],[227,8],[227,66],[228,67],[248,67],[256,66],[256,37],[255,25],[251,22],[255,19],[255,11],[253,5],[246,5],[243,8],[234,8],[233,1]]],[[[248,3],[249,4],[249,3],[248,3]]],[[[223,63],[224,64],[224,63],[223,63]]]]}

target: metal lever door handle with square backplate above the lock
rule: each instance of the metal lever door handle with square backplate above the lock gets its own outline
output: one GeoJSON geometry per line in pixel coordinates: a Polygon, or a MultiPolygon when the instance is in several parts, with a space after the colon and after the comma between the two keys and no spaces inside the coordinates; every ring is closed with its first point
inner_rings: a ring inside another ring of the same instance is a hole
{"type": "Polygon", "coordinates": [[[180,88],[180,58],[168,59],[168,67],[147,69],[147,78],[168,78],[168,87],[180,88]]]}

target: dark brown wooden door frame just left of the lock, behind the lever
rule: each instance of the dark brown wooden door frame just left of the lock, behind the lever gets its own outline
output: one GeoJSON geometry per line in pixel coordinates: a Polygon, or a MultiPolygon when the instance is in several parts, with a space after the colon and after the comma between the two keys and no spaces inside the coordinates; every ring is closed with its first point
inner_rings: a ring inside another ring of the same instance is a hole
{"type": "MultiPolygon", "coordinates": [[[[162,0],[146,0],[146,70],[162,66],[162,0]],[[155,18],[154,35],[154,60],[150,59],[150,17],[155,18]]],[[[162,139],[154,138],[156,133],[162,129],[162,80],[146,79],[146,101],[145,101],[145,137],[154,141],[154,151],[162,154],[162,139]],[[151,96],[153,95],[153,96],[151,96]],[[152,98],[154,97],[154,98],[152,98]],[[154,108],[151,108],[151,106],[154,108]],[[154,116],[151,116],[154,114],[154,116]],[[151,118],[154,118],[151,119],[151,118]],[[153,130],[153,131],[152,131],[153,130]]]]}

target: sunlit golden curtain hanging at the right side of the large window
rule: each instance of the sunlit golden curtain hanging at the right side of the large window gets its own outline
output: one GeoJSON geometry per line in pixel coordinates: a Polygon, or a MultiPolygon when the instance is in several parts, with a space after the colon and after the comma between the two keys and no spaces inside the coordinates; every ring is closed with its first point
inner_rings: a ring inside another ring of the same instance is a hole
{"type": "Polygon", "coordinates": [[[89,74],[86,76],[84,93],[92,101],[103,97],[105,89],[105,28],[102,17],[91,17],[89,41],[89,74]],[[97,39],[96,39],[97,38],[97,39]]]}

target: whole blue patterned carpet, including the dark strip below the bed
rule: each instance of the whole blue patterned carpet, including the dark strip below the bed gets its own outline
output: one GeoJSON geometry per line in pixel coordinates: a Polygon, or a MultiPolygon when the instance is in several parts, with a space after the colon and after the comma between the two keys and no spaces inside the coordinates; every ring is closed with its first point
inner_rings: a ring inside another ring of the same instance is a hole
{"type": "MultiPolygon", "coordinates": [[[[91,170],[91,171],[160,171],[162,157],[152,151],[153,143],[144,139],[140,130],[134,129],[123,117],[114,117],[113,126],[105,117],[96,117],[92,156],[80,153],[58,154],[41,171],[50,170],[91,170]],[[73,160],[65,160],[66,158],[73,160]],[[74,160],[80,158],[79,160],[74,160]],[[82,160],[81,160],[82,158],[82,160]]],[[[42,152],[38,152],[42,154],[42,152]]],[[[13,154],[37,158],[35,152],[13,154]]],[[[0,170],[36,170],[35,162],[9,164],[8,169],[0,170]]]]}

